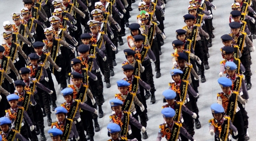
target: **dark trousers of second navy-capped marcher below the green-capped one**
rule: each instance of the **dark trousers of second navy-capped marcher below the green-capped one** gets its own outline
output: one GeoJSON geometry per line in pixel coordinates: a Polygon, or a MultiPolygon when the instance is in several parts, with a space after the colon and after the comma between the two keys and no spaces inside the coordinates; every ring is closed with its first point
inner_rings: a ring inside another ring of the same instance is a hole
{"type": "MultiPolygon", "coordinates": [[[[146,82],[147,84],[150,85],[150,92],[155,93],[155,84],[154,84],[154,79],[153,79],[153,73],[152,73],[152,66],[150,59],[144,60],[142,62],[142,66],[144,66],[145,70],[143,73],[141,73],[141,80],[146,82]]],[[[143,89],[140,89],[143,90],[143,89]]]]}

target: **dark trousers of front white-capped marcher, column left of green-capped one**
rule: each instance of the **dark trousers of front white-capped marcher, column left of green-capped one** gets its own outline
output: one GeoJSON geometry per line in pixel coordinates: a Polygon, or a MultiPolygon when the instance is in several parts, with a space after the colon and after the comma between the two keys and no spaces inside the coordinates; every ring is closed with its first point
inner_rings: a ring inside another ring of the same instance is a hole
{"type": "MultiPolygon", "coordinates": [[[[107,48],[106,48],[107,50],[107,48]]],[[[107,51],[104,50],[103,52],[105,53],[105,56],[108,58],[107,51]]],[[[103,61],[102,57],[97,53],[97,61],[99,62],[99,66],[101,69],[101,73],[104,75],[104,79],[106,83],[110,83],[110,68],[109,68],[109,63],[107,61],[103,61]]]]}

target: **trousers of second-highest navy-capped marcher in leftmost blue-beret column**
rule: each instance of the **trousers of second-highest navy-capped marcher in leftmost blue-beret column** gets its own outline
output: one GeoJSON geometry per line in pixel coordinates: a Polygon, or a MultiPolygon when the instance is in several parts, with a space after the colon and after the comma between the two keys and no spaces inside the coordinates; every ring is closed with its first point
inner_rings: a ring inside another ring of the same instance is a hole
{"type": "MultiPolygon", "coordinates": [[[[45,87],[47,87],[46,86],[46,81],[44,79],[41,80],[40,83],[43,84],[45,87]]],[[[41,107],[45,108],[46,114],[52,113],[51,112],[51,107],[50,107],[50,96],[49,96],[49,93],[47,93],[46,91],[44,91],[44,90],[42,90],[40,88],[37,88],[37,93],[39,94],[39,98],[42,101],[41,103],[44,104],[44,106],[41,105],[41,107]]]]}

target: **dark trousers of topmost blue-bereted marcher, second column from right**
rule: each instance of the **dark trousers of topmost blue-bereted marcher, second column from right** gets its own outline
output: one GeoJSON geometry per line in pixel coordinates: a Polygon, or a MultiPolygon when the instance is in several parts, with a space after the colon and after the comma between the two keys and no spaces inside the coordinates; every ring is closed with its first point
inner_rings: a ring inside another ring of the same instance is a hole
{"type": "MultiPolygon", "coordinates": [[[[189,110],[192,111],[192,106],[191,106],[191,102],[187,102],[186,104],[184,104],[189,110]]],[[[194,119],[192,118],[191,115],[189,115],[188,113],[182,111],[182,116],[184,119],[184,123],[187,125],[187,132],[193,136],[195,134],[194,132],[194,119]]]]}

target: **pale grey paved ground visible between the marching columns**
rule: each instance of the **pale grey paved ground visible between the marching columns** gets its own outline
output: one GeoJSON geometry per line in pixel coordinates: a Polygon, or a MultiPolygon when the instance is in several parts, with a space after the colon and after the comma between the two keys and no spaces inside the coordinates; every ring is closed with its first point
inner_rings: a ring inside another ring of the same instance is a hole
{"type": "MultiPolygon", "coordinates": [[[[136,16],[139,14],[137,10],[137,4],[140,0],[137,0],[136,3],[132,4],[133,11],[130,12],[131,18],[130,23],[136,22],[136,16]]],[[[217,10],[213,11],[214,20],[213,26],[215,27],[214,35],[215,38],[212,40],[213,46],[209,49],[210,58],[209,58],[209,66],[210,69],[205,71],[206,76],[206,83],[200,83],[199,93],[200,99],[198,100],[198,107],[200,110],[200,121],[201,121],[201,129],[195,129],[194,139],[197,141],[214,141],[214,138],[210,136],[209,129],[208,129],[208,120],[212,118],[210,105],[217,101],[217,93],[221,91],[217,79],[219,78],[219,62],[222,60],[219,49],[223,46],[220,40],[220,36],[226,33],[229,33],[229,13],[231,11],[231,3],[232,0],[214,0],[213,4],[217,6],[217,10]]],[[[172,68],[171,61],[171,53],[174,51],[172,47],[172,41],[175,38],[175,30],[182,28],[185,23],[183,22],[183,15],[187,14],[187,7],[189,5],[188,0],[167,0],[166,10],[165,10],[165,45],[162,47],[163,54],[160,56],[161,60],[161,73],[162,76],[158,79],[154,78],[155,81],[155,88],[156,88],[156,102],[155,104],[151,104],[150,101],[147,101],[148,106],[148,126],[147,126],[147,134],[148,139],[147,141],[155,141],[155,138],[158,133],[158,125],[163,123],[163,118],[161,115],[161,106],[164,105],[162,103],[162,92],[168,88],[168,82],[172,81],[170,76],[170,69],[172,68]]],[[[12,12],[19,12],[20,9],[23,7],[23,3],[21,0],[1,0],[0,1],[0,25],[6,20],[12,20],[10,14],[12,12]]],[[[0,28],[0,32],[3,32],[3,28],[0,28]]],[[[130,34],[130,31],[126,30],[127,35],[130,34]]],[[[116,55],[117,66],[115,66],[115,76],[110,78],[111,87],[107,89],[104,84],[104,98],[105,103],[103,104],[104,110],[104,117],[99,119],[99,124],[101,126],[101,131],[95,133],[94,140],[95,141],[107,141],[109,139],[107,135],[107,124],[109,123],[109,116],[111,115],[111,109],[109,100],[114,98],[114,94],[119,92],[117,89],[116,81],[120,80],[124,77],[122,70],[121,70],[121,63],[125,60],[123,50],[128,48],[127,45],[127,38],[123,37],[124,45],[119,47],[119,53],[116,55]]],[[[1,40],[0,40],[1,42],[1,40]]],[[[252,84],[253,87],[249,91],[250,94],[250,101],[247,104],[247,112],[249,118],[249,136],[250,141],[256,141],[256,128],[254,120],[255,118],[255,109],[253,104],[256,102],[256,96],[254,95],[253,91],[256,91],[256,66],[255,66],[255,53],[252,53],[252,61],[253,65],[251,66],[252,70],[252,84]]],[[[154,68],[154,63],[152,64],[154,68]]],[[[155,74],[155,72],[154,72],[155,74]]],[[[60,86],[55,84],[57,94],[60,93],[60,86]]],[[[64,98],[59,94],[57,105],[64,102],[64,98]]],[[[55,114],[52,114],[52,119],[55,121],[55,114]]],[[[50,138],[47,134],[47,131],[50,129],[46,124],[46,117],[45,117],[45,133],[48,138],[47,141],[50,141],[50,138]]],[[[165,141],[165,139],[163,139],[165,141]]]]}

